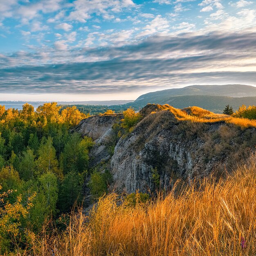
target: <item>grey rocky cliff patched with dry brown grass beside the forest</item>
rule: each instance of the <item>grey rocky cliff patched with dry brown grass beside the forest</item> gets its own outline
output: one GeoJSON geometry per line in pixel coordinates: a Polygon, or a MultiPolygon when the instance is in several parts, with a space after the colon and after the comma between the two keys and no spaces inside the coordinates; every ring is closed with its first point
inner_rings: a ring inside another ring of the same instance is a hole
{"type": "MultiPolygon", "coordinates": [[[[185,111],[193,115],[190,109],[185,111]]],[[[141,121],[132,132],[119,139],[110,159],[116,191],[153,191],[156,184],[168,190],[177,178],[191,182],[210,173],[221,175],[255,151],[256,129],[253,127],[243,128],[218,119],[182,120],[176,112],[161,105],[147,105],[141,110],[141,121]],[[159,181],[155,180],[154,172],[159,174],[159,181]]],[[[92,150],[97,162],[106,158],[104,138],[117,120],[119,115],[95,116],[76,128],[97,142],[98,146],[92,150]]]]}

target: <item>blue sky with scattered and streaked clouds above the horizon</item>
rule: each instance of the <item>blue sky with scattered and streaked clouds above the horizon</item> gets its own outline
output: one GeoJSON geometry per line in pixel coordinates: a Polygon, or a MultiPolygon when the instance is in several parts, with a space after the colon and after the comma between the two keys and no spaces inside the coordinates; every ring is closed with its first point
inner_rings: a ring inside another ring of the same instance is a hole
{"type": "Polygon", "coordinates": [[[256,86],[255,0],[0,0],[0,100],[256,86]]]}

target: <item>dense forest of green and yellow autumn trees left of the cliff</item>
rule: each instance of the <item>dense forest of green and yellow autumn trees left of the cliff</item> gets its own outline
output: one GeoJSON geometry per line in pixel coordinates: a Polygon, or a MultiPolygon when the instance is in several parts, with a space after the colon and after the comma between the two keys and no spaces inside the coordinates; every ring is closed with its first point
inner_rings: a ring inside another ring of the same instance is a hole
{"type": "MultiPolygon", "coordinates": [[[[36,111],[27,103],[20,111],[0,106],[0,185],[10,192],[4,203],[16,214],[10,220],[21,231],[16,236],[19,246],[27,246],[28,232],[37,234],[45,221],[60,211],[70,211],[76,200],[82,202],[89,149],[94,143],[72,135],[70,127],[85,117],[76,107],[60,111],[56,103],[45,103],[36,111]],[[65,165],[59,164],[61,157],[65,165]],[[32,195],[34,206],[28,204],[32,195]]],[[[5,216],[1,200],[0,196],[0,225],[5,216]]],[[[7,254],[15,249],[13,235],[8,231],[1,237],[1,228],[0,248],[5,247],[7,254]]]]}

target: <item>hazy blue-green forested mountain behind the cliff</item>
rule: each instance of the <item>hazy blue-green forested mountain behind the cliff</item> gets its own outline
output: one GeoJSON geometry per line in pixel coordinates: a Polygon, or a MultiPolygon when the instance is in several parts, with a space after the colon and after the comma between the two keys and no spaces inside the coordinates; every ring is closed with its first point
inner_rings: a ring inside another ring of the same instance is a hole
{"type": "Polygon", "coordinates": [[[150,92],[126,106],[142,108],[148,103],[169,104],[175,108],[198,106],[213,112],[222,112],[227,104],[234,110],[239,106],[256,104],[256,87],[249,85],[191,85],[150,92]]]}

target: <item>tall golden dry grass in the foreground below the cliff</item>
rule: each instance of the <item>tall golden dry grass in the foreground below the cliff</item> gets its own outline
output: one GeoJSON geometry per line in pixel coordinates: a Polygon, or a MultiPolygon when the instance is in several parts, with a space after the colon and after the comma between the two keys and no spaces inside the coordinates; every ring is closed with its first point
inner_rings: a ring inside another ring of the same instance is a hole
{"type": "Polygon", "coordinates": [[[256,165],[218,181],[177,183],[148,204],[101,198],[90,216],[72,213],[63,232],[31,236],[30,254],[48,256],[256,255],[256,165]],[[246,241],[241,244],[241,237],[246,241]],[[246,247],[245,247],[246,246],[246,247]]]}

